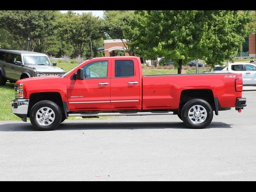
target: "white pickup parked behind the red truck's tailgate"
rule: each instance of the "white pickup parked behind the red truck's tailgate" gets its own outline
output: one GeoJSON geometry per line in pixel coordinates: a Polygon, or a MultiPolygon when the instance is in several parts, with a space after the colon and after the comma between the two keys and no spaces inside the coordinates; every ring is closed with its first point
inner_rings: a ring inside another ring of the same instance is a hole
{"type": "Polygon", "coordinates": [[[253,63],[229,63],[228,66],[215,66],[219,70],[210,73],[241,73],[243,85],[256,85],[256,64],[253,63]]]}

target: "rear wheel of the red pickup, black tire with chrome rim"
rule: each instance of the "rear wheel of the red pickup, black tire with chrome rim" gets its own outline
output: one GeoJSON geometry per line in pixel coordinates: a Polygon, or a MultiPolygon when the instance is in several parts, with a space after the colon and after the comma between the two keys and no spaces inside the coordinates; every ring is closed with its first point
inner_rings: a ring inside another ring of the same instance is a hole
{"type": "Polygon", "coordinates": [[[181,111],[181,117],[184,124],[188,128],[202,129],[208,126],[212,122],[212,118],[213,118],[212,107],[205,100],[198,99],[198,98],[191,99],[188,102],[186,102],[186,104],[183,106],[181,111]],[[189,110],[190,110],[190,113],[193,113],[193,114],[188,114],[189,110]],[[201,114],[200,114],[200,110],[202,110],[201,114]],[[206,112],[203,112],[203,111],[206,111],[206,112]],[[204,118],[204,116],[206,117],[204,118]]]}

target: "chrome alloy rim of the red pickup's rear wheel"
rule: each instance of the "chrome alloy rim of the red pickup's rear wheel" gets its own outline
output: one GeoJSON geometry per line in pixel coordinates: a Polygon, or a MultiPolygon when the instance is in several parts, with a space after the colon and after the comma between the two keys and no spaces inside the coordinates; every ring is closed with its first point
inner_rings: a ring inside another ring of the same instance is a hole
{"type": "Polygon", "coordinates": [[[194,124],[200,124],[207,118],[206,109],[201,105],[194,105],[188,110],[188,118],[194,124]]]}

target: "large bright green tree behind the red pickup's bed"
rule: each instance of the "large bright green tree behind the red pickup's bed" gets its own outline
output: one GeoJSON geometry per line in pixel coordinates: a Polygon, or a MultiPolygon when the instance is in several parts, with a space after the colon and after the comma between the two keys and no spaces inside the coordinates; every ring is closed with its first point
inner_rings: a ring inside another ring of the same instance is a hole
{"type": "Polygon", "coordinates": [[[128,38],[144,58],[165,56],[181,73],[182,64],[203,58],[217,64],[233,58],[248,35],[250,12],[136,11],[128,38]]]}

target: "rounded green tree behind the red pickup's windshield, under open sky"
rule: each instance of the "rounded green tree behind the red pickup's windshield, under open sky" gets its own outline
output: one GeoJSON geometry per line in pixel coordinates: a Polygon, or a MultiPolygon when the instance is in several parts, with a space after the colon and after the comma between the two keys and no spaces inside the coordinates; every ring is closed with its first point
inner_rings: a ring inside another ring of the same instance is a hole
{"type": "Polygon", "coordinates": [[[58,19],[58,35],[74,48],[74,56],[83,55],[90,41],[104,36],[102,21],[92,13],[67,12],[58,19]]]}

